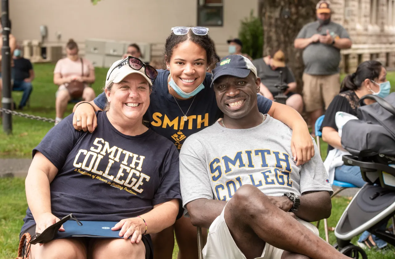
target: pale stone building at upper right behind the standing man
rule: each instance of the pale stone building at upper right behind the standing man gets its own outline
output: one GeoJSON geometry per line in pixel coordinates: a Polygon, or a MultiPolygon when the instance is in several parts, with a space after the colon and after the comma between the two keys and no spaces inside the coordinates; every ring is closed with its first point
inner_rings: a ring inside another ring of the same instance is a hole
{"type": "Polygon", "coordinates": [[[366,60],[395,68],[395,0],[332,0],[333,21],[350,34],[353,45],[342,51],[341,68],[355,71],[366,60]]]}

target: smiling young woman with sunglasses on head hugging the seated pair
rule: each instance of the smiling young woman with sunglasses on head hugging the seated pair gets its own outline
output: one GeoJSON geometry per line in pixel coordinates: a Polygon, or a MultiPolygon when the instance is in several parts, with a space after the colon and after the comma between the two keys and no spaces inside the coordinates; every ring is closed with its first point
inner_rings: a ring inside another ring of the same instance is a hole
{"type": "MultiPolygon", "coordinates": [[[[180,150],[186,137],[212,125],[220,118],[221,111],[210,88],[211,74],[207,73],[215,53],[209,29],[175,27],[171,31],[164,53],[167,70],[158,70],[144,119],[152,130],[167,137],[180,150]]],[[[235,110],[244,105],[243,96],[238,95],[235,92],[234,96],[229,96],[229,99],[239,99],[229,103],[235,110]]],[[[90,104],[96,111],[103,109],[105,95],[100,94],[90,104]]],[[[77,103],[73,119],[75,129],[93,132],[96,128],[95,111],[90,104],[77,103]]],[[[293,129],[292,151],[298,165],[314,156],[307,124],[297,111],[263,96],[258,96],[258,106],[262,113],[270,114],[293,129]]],[[[179,245],[179,258],[198,258],[196,227],[185,217],[153,237],[156,258],[171,258],[173,231],[179,245]]]]}

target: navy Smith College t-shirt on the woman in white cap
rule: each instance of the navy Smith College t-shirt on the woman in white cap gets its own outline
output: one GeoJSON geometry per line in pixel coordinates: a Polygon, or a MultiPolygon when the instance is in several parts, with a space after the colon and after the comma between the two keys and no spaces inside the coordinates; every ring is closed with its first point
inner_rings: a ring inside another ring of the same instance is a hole
{"type": "MultiPolygon", "coordinates": [[[[58,168],[50,184],[51,211],[58,218],[120,221],[149,212],[154,205],[181,200],[179,154],[165,137],[147,130],[120,133],[106,112],[98,112],[93,133],[73,128],[73,114],[48,131],[41,152],[58,168]]],[[[34,225],[26,211],[22,232],[34,225]]]]}

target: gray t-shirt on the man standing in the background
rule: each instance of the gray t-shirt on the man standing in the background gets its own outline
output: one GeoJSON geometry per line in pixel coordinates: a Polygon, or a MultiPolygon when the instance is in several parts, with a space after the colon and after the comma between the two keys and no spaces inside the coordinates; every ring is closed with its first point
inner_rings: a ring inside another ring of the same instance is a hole
{"type": "MultiPolygon", "coordinates": [[[[350,38],[346,29],[340,24],[330,22],[320,28],[318,21],[308,23],[296,36],[297,39],[307,39],[314,34],[326,35],[326,31],[339,35],[340,38],[350,38]]],[[[320,42],[309,44],[303,51],[305,73],[309,75],[333,75],[339,73],[340,49],[320,42]]]]}

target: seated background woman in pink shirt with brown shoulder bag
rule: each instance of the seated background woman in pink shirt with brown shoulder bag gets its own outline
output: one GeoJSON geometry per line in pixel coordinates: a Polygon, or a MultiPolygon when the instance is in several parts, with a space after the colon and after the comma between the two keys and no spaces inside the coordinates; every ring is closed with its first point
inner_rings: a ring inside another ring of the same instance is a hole
{"type": "Polygon", "coordinates": [[[78,56],[78,45],[73,39],[70,39],[66,45],[66,54],[66,58],[56,63],[53,75],[53,83],[59,86],[56,92],[55,125],[62,120],[67,104],[71,100],[70,92],[66,88],[69,83],[74,80],[84,83],[85,88],[79,98],[92,101],[96,97],[94,90],[89,86],[95,81],[94,67],[89,60],[78,56]]]}

